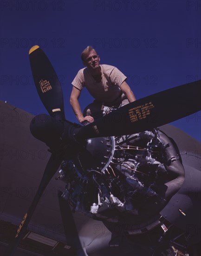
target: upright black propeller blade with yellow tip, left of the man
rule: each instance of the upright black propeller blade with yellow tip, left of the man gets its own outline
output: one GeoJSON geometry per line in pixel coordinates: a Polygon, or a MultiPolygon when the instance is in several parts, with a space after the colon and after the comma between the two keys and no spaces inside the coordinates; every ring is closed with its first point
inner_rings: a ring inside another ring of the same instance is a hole
{"type": "Polygon", "coordinates": [[[46,110],[51,116],[57,111],[61,111],[64,115],[63,92],[52,64],[37,45],[30,49],[29,59],[33,80],[46,110]]]}

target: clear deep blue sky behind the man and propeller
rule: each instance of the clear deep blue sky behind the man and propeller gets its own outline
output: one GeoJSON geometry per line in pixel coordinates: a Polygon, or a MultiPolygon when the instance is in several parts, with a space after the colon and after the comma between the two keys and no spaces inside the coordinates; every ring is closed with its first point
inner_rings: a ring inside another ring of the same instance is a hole
{"type": "MultiPolygon", "coordinates": [[[[88,45],[128,77],[137,99],[201,79],[201,1],[1,0],[0,11],[0,100],[35,115],[46,110],[29,65],[33,45],[52,62],[73,122],[71,81],[88,45]]],[[[91,101],[84,89],[81,108],[91,101]]],[[[172,124],[201,141],[201,112],[172,124]]]]}

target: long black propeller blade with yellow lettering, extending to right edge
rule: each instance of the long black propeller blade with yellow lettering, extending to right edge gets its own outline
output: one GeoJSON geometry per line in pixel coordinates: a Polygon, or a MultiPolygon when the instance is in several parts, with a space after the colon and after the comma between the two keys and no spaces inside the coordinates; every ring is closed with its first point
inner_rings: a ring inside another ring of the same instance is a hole
{"type": "Polygon", "coordinates": [[[162,126],[201,110],[201,80],[152,94],[75,130],[74,137],[129,135],[162,126]]]}

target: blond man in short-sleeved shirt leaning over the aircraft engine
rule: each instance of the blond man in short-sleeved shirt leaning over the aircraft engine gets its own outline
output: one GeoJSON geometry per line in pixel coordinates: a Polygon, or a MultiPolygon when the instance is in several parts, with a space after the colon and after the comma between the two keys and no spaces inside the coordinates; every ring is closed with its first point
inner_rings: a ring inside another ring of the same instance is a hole
{"type": "Polygon", "coordinates": [[[100,65],[100,57],[91,46],[84,49],[81,59],[86,67],[80,69],[72,81],[70,97],[71,107],[80,123],[93,122],[102,115],[104,106],[118,108],[136,100],[126,83],[126,76],[117,67],[100,65]],[[84,109],[83,115],[78,99],[84,86],[95,100],[84,109]]]}

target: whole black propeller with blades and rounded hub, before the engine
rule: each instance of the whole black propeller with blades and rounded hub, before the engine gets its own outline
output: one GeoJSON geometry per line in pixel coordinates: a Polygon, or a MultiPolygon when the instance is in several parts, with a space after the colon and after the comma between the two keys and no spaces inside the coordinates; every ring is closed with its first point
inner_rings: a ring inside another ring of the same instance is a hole
{"type": "Polygon", "coordinates": [[[52,155],[39,185],[40,193],[36,193],[6,255],[12,255],[19,244],[22,228],[27,227],[41,191],[44,191],[62,160],[71,159],[84,147],[85,139],[143,132],[192,115],[201,109],[201,81],[195,81],[134,101],[80,127],[65,120],[62,88],[45,53],[39,46],[34,46],[30,49],[29,56],[35,86],[50,115],[34,117],[30,129],[33,136],[51,148],[52,155]]]}

